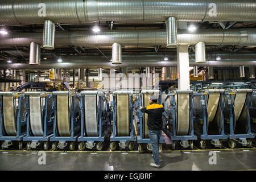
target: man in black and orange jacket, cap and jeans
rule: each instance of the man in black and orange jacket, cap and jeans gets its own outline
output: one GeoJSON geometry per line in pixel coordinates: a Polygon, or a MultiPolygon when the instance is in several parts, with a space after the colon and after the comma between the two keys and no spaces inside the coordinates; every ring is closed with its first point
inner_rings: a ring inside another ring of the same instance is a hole
{"type": "Polygon", "coordinates": [[[151,167],[160,168],[160,158],[159,158],[159,140],[162,134],[163,119],[162,113],[164,111],[163,105],[158,104],[158,97],[152,95],[149,97],[149,106],[139,107],[142,113],[147,113],[147,126],[150,136],[150,141],[152,144],[152,153],[154,156],[155,163],[151,163],[151,167]]]}

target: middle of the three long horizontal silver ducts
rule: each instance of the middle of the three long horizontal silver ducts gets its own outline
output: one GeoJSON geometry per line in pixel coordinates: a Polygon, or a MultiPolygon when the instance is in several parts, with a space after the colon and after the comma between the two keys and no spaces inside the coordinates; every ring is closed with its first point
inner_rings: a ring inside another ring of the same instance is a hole
{"type": "MultiPolygon", "coordinates": [[[[122,46],[155,46],[166,47],[166,30],[118,30],[100,31],[92,34],[91,31],[56,32],[56,46],[112,46],[118,42],[122,46]]],[[[31,42],[42,44],[42,33],[8,34],[1,36],[0,46],[28,46],[31,42]]],[[[256,46],[256,29],[207,29],[188,32],[177,30],[177,44],[195,45],[204,42],[205,45],[238,45],[256,46]]]]}

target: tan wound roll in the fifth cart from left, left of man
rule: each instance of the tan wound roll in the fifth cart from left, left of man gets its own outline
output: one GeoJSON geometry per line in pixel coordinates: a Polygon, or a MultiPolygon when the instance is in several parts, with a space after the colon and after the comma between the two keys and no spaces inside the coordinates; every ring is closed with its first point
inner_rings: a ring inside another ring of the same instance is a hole
{"type": "Polygon", "coordinates": [[[117,94],[117,136],[127,137],[129,132],[129,94],[117,94]]]}

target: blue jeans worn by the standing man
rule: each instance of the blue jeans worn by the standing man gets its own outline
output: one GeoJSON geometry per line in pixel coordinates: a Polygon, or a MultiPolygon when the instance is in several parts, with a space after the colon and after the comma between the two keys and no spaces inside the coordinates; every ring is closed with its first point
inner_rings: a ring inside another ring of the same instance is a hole
{"type": "Polygon", "coordinates": [[[154,156],[155,164],[159,165],[159,140],[162,134],[162,130],[148,130],[148,133],[152,144],[152,153],[154,156]]]}

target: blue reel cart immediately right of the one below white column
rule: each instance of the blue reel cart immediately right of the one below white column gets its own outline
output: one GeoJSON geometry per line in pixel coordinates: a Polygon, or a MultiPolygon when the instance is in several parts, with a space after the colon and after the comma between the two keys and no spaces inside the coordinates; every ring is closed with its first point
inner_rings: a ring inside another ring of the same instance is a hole
{"type": "Polygon", "coordinates": [[[193,93],[193,119],[195,134],[201,139],[200,148],[204,149],[206,140],[215,147],[222,147],[222,140],[228,139],[224,134],[224,116],[222,97],[224,89],[199,90],[193,93]]]}

